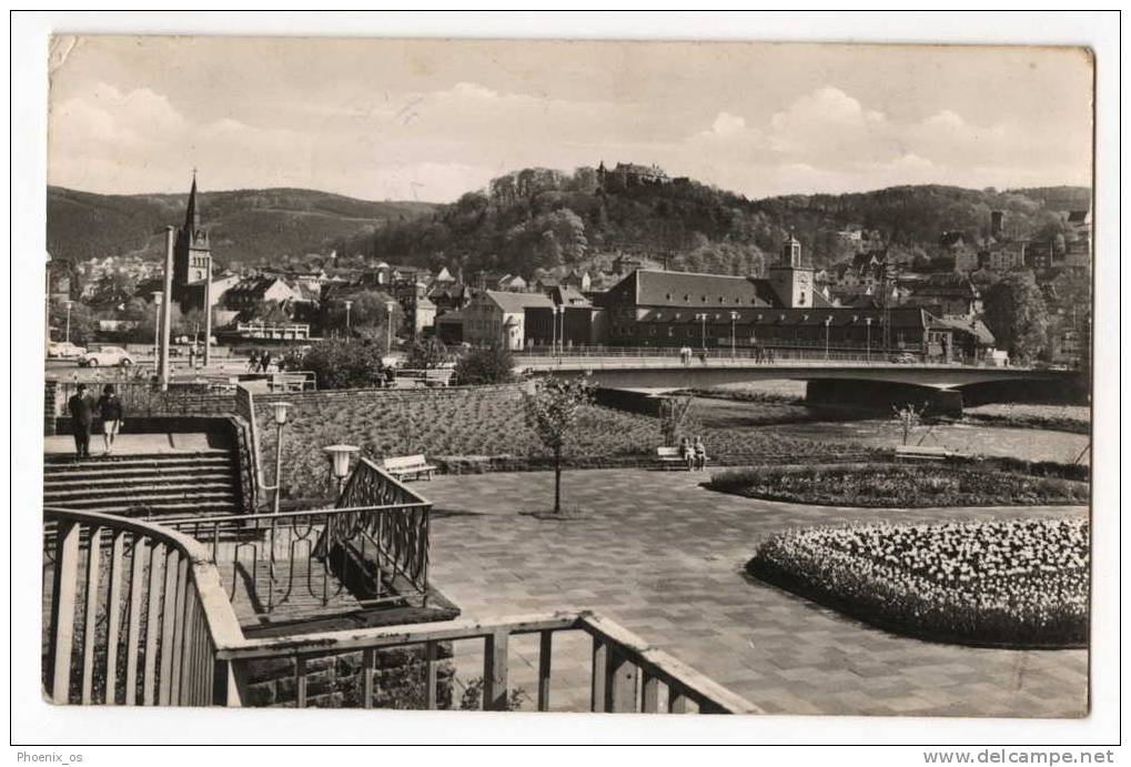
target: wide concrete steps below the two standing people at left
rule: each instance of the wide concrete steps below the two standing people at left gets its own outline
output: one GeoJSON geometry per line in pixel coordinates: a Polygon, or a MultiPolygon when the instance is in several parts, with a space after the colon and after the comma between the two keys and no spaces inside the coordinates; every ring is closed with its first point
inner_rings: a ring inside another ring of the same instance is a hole
{"type": "Polygon", "coordinates": [[[45,506],[122,516],[240,512],[236,456],[226,449],[44,458],[45,506]]]}

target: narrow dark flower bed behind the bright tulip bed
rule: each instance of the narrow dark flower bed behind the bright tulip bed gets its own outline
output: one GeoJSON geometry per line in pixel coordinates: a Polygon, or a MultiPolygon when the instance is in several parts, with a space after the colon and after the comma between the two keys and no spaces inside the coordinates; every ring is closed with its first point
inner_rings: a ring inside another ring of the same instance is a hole
{"type": "Polygon", "coordinates": [[[1088,484],[956,464],[763,467],[722,472],[711,490],[792,503],[870,508],[1087,503],[1088,484]]]}

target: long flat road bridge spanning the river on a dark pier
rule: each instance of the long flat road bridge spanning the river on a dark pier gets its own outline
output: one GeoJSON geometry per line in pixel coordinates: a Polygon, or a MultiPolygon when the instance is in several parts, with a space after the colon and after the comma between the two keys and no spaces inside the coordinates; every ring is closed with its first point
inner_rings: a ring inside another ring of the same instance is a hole
{"type": "Polygon", "coordinates": [[[1024,367],[909,362],[888,359],[784,359],[715,356],[683,362],[677,356],[605,354],[516,355],[516,368],[533,376],[585,376],[607,389],[675,391],[766,380],[808,381],[812,402],[882,405],[924,398],[935,412],[961,412],[964,399],[1015,402],[1034,396],[1072,399],[1082,386],[1078,371],[1024,367]]]}

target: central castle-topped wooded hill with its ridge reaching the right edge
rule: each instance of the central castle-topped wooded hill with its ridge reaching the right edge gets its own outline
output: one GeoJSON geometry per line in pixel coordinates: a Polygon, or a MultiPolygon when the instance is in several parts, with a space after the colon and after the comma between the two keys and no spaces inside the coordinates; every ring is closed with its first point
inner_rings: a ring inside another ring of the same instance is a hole
{"type": "Polygon", "coordinates": [[[337,247],[396,264],[463,267],[466,274],[529,276],[625,251],[666,260],[673,269],[757,275],[791,232],[817,267],[851,257],[836,233],[853,226],[897,255],[930,258],[943,231],[985,241],[991,210],[1005,212],[1009,236],[1055,236],[1064,229],[1057,210],[1087,209],[1089,198],[1076,187],[999,192],[916,186],[750,200],[694,181],[607,189],[592,167],[572,174],[526,169],[429,216],[391,222],[337,247]]]}

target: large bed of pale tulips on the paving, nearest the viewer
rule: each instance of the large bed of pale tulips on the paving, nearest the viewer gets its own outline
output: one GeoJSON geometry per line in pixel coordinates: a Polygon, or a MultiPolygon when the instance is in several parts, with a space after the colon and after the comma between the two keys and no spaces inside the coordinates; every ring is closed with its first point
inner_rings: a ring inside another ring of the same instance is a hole
{"type": "Polygon", "coordinates": [[[746,570],[932,641],[1041,648],[1088,641],[1083,519],[793,531],[765,543],[746,570]]]}

